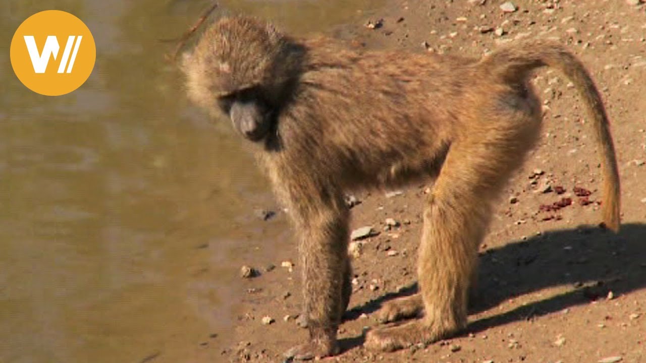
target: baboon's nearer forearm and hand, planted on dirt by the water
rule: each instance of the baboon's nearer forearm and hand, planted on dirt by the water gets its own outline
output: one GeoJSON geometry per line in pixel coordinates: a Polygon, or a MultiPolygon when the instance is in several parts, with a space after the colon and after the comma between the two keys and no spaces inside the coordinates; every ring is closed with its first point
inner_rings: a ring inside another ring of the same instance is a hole
{"type": "Polygon", "coordinates": [[[337,328],[349,290],[348,210],[340,203],[321,202],[294,216],[300,234],[299,254],[304,290],[304,314],[309,342],[287,351],[288,357],[309,359],[339,353],[337,328]],[[314,210],[314,211],[313,211],[314,210]]]}

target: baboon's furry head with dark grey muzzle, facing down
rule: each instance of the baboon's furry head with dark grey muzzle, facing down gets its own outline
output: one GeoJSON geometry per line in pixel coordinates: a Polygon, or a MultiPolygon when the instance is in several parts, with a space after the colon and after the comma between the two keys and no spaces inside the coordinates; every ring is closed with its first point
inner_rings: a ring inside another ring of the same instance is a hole
{"type": "Polygon", "coordinates": [[[302,51],[273,26],[228,17],[210,26],[185,54],[189,98],[229,116],[252,141],[264,139],[298,78],[302,51]]]}

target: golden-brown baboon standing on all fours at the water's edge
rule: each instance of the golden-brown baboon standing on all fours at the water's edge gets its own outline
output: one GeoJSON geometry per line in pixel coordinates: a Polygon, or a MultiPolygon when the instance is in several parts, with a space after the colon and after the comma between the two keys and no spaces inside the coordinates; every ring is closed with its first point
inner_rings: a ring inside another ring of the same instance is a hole
{"type": "Polygon", "coordinates": [[[419,295],[393,300],[366,346],[391,351],[466,327],[477,247],[512,171],[536,144],[541,105],[528,80],[554,67],[576,86],[601,149],[603,223],[620,226],[620,185],[605,108],[589,74],[549,41],[482,59],[368,51],[299,40],[258,19],[225,17],[183,56],[189,98],[228,116],[298,231],[309,340],[293,358],[335,355],[351,288],[344,194],[420,180],[425,197],[419,295]]]}

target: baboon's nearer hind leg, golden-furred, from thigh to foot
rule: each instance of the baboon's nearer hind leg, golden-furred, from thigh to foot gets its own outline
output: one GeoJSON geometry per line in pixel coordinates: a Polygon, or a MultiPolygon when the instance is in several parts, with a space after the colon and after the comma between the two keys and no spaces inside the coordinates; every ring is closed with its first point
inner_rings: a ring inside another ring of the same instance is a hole
{"type": "Polygon", "coordinates": [[[424,317],[369,331],[366,346],[391,351],[446,338],[466,327],[477,247],[492,202],[533,145],[532,133],[538,134],[535,119],[518,121],[474,132],[452,145],[424,209],[417,265],[424,317]]]}

